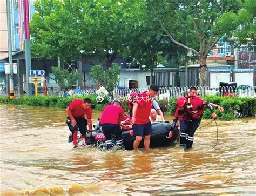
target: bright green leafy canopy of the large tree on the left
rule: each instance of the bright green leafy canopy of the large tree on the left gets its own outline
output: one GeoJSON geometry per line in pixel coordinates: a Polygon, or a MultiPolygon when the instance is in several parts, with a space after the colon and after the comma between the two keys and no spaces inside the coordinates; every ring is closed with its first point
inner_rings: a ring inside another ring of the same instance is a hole
{"type": "Polygon", "coordinates": [[[125,5],[122,0],[37,1],[31,21],[32,55],[82,61],[90,55],[110,67],[122,46],[125,5]]]}

